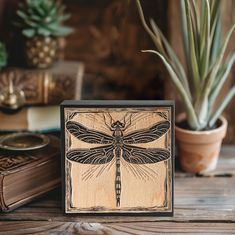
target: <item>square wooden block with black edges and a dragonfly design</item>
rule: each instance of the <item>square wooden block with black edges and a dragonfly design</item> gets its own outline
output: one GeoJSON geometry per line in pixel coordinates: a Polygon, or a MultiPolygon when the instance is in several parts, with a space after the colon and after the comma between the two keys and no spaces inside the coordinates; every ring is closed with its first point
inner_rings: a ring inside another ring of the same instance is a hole
{"type": "Polygon", "coordinates": [[[174,103],[61,105],[65,213],[173,215],[174,103]]]}

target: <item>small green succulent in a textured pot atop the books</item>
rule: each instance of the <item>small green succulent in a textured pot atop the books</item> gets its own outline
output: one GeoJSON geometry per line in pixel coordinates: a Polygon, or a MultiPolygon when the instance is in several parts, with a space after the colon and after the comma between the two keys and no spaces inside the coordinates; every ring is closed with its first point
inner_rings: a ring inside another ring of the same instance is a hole
{"type": "Polygon", "coordinates": [[[72,32],[63,25],[70,15],[55,0],[25,0],[17,10],[18,27],[24,38],[25,58],[28,66],[48,68],[56,59],[58,38],[72,32]]]}

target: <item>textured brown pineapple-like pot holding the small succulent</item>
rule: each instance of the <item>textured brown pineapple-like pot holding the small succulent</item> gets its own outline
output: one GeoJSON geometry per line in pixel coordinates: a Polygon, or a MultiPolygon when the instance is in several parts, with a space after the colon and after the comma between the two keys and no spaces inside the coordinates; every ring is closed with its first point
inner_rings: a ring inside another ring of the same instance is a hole
{"type": "Polygon", "coordinates": [[[57,58],[58,39],[35,36],[25,41],[25,59],[31,68],[46,69],[57,58]]]}

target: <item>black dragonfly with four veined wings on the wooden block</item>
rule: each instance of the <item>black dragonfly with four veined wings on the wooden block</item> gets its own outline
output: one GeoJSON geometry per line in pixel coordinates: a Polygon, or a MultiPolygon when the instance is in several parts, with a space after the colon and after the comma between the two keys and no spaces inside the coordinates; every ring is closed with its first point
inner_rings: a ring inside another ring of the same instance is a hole
{"type": "MultiPolygon", "coordinates": [[[[133,131],[124,134],[125,123],[116,121],[109,126],[112,135],[89,129],[74,121],[66,123],[67,130],[77,137],[90,144],[103,144],[100,147],[90,149],[72,149],[68,151],[67,158],[81,164],[108,164],[115,158],[115,193],[116,206],[121,204],[121,159],[129,164],[153,164],[169,159],[170,152],[162,148],[143,148],[131,144],[149,143],[163,134],[170,127],[169,121],[162,121],[150,128],[133,131]]],[[[134,172],[133,172],[134,173],[134,172]]]]}

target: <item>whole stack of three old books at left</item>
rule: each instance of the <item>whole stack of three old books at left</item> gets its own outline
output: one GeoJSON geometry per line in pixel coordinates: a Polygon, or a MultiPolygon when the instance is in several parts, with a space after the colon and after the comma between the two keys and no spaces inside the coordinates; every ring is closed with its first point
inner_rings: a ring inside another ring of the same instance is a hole
{"type": "Polygon", "coordinates": [[[63,61],[48,70],[11,68],[0,75],[0,91],[8,86],[10,73],[14,87],[26,98],[17,113],[0,112],[0,135],[30,131],[50,139],[39,150],[0,149],[0,211],[11,211],[60,184],[60,141],[50,132],[60,130],[59,104],[81,98],[83,71],[82,63],[63,61]]]}

